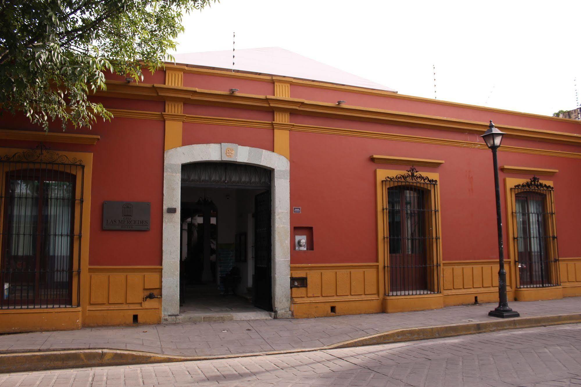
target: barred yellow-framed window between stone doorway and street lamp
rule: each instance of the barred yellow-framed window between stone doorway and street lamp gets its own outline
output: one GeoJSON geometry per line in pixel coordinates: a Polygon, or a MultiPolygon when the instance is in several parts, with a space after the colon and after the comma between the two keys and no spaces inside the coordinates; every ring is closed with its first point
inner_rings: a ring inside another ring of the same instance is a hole
{"type": "Polygon", "coordinates": [[[440,293],[438,183],[406,172],[382,181],[386,295],[440,293]]]}

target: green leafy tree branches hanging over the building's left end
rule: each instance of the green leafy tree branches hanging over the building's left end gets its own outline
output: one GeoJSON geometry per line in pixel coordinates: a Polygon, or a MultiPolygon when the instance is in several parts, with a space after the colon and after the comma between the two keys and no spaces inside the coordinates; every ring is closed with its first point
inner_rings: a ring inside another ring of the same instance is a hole
{"type": "Polygon", "coordinates": [[[215,0],[0,0],[0,112],[23,112],[48,130],[110,119],[87,95],[105,72],[142,80],[184,31],[184,13],[215,0]]]}

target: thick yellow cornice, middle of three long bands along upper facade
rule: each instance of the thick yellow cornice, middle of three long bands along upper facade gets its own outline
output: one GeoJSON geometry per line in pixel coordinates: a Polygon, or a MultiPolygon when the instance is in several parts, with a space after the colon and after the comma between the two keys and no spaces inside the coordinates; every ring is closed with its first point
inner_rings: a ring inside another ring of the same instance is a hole
{"type": "MultiPolygon", "coordinates": [[[[488,123],[450,119],[446,117],[428,116],[392,110],[375,109],[371,107],[336,105],[335,103],[305,101],[304,99],[252,94],[232,94],[229,92],[203,90],[197,88],[176,87],[170,85],[133,85],[120,81],[107,81],[107,91],[98,92],[98,95],[123,96],[123,98],[145,99],[172,99],[182,102],[197,103],[199,105],[214,105],[227,107],[241,107],[256,110],[279,110],[295,114],[319,116],[337,119],[358,120],[429,128],[436,130],[455,131],[462,133],[483,134],[488,123]],[[125,94],[123,94],[126,91],[125,94]],[[143,91],[140,94],[139,91],[143,91]]],[[[506,133],[507,137],[527,139],[532,141],[554,142],[558,144],[581,145],[581,135],[539,130],[525,127],[496,126],[506,133]]]]}

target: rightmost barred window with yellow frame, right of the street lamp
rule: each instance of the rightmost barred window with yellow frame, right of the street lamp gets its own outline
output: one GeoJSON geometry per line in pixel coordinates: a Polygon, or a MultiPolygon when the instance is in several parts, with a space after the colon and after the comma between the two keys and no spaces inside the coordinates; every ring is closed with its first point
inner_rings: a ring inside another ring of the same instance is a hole
{"type": "Polygon", "coordinates": [[[553,187],[533,176],[511,191],[519,287],[557,286],[560,275],[553,187]]]}

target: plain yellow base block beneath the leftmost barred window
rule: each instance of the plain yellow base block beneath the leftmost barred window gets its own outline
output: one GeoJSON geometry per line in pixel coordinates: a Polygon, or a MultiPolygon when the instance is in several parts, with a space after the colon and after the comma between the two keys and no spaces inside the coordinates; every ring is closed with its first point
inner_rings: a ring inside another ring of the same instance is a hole
{"type": "Polygon", "coordinates": [[[81,308],[0,311],[0,334],[81,329],[81,308]]]}

